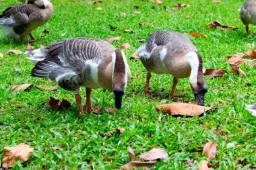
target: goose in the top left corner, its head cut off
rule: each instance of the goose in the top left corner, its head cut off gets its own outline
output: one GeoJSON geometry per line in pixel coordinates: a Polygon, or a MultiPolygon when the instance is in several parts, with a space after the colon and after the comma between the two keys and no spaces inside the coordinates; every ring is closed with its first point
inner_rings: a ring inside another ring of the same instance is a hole
{"type": "Polygon", "coordinates": [[[30,35],[36,40],[32,31],[48,22],[53,13],[53,5],[48,0],[29,0],[28,3],[8,7],[0,15],[0,26],[6,38],[19,38],[22,44],[24,38],[30,35]]]}

